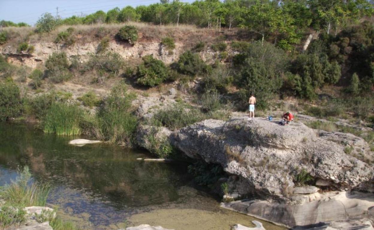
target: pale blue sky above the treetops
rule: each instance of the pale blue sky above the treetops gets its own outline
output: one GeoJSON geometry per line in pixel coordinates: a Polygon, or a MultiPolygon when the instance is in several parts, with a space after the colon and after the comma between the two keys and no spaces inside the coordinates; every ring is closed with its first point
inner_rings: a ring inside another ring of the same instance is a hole
{"type": "Polygon", "coordinates": [[[114,7],[138,6],[157,3],[159,0],[0,0],[0,21],[26,22],[34,25],[40,16],[50,12],[61,18],[81,16],[97,10],[107,12],[114,7]]]}

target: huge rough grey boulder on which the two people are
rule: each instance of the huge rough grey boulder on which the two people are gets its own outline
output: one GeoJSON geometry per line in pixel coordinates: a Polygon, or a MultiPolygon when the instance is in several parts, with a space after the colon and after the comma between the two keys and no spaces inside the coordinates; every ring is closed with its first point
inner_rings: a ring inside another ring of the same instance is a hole
{"type": "Polygon", "coordinates": [[[373,178],[373,166],[297,122],[280,126],[261,118],[205,120],[178,130],[171,139],[189,157],[221,164],[239,176],[240,188],[234,189],[241,194],[262,191],[289,196],[301,169],[331,181],[336,189],[355,188],[373,178]]]}

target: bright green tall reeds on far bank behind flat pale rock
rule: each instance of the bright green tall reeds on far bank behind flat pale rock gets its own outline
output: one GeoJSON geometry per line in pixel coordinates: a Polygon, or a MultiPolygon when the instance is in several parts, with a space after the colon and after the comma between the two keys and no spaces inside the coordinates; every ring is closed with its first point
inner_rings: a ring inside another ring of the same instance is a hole
{"type": "Polygon", "coordinates": [[[43,119],[43,130],[57,135],[79,135],[83,110],[77,105],[53,103],[43,119]]]}

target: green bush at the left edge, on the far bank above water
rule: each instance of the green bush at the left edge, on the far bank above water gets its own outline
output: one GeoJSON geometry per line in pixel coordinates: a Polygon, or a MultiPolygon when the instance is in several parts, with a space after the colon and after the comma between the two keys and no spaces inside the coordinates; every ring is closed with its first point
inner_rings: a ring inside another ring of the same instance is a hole
{"type": "Polygon", "coordinates": [[[17,117],[22,111],[19,88],[13,82],[0,82],[0,121],[17,117]]]}

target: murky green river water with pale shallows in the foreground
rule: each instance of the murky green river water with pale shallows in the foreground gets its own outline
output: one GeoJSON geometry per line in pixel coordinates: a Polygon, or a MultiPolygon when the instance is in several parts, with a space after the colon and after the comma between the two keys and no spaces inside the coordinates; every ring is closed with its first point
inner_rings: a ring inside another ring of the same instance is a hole
{"type": "MultiPolygon", "coordinates": [[[[69,145],[71,139],[33,126],[0,123],[0,186],[29,166],[48,182],[47,206],[79,229],[116,230],[138,224],[175,230],[251,227],[255,218],[219,207],[220,199],[193,186],[183,163],[138,161],[147,152],[108,144],[69,145]]],[[[261,221],[267,230],[282,229],[261,221]]]]}

